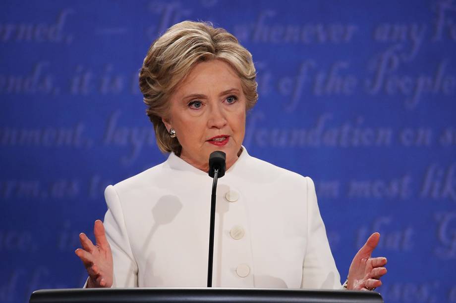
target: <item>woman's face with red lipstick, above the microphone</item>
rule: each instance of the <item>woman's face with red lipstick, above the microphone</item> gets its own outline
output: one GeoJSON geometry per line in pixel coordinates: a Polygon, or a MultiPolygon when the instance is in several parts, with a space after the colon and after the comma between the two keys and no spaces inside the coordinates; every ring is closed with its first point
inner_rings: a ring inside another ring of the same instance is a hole
{"type": "Polygon", "coordinates": [[[245,106],[236,72],[225,61],[214,59],[195,65],[178,85],[163,122],[176,131],[183,160],[207,172],[209,155],[221,150],[227,154],[228,169],[244,139],[245,106]]]}

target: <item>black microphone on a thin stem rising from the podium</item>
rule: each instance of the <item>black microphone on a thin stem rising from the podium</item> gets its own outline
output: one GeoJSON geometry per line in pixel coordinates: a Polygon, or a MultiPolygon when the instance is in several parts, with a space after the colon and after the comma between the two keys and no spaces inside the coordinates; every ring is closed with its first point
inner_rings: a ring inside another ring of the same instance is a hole
{"type": "Polygon", "coordinates": [[[214,178],[212,182],[211,196],[211,222],[209,226],[209,258],[207,266],[207,287],[212,287],[212,266],[214,260],[214,228],[215,228],[215,201],[217,192],[217,179],[225,175],[227,168],[227,155],[223,151],[212,152],[209,156],[209,176],[214,178]]]}

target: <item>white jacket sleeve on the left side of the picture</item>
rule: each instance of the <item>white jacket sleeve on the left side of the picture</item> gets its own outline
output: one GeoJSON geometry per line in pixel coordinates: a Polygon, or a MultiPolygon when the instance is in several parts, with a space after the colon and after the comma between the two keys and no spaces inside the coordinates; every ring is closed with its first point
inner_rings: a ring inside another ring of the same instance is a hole
{"type": "Polygon", "coordinates": [[[138,287],[138,265],[131,250],[120,199],[113,185],[106,188],[105,199],[108,212],[104,225],[114,260],[113,287],[138,287]]]}

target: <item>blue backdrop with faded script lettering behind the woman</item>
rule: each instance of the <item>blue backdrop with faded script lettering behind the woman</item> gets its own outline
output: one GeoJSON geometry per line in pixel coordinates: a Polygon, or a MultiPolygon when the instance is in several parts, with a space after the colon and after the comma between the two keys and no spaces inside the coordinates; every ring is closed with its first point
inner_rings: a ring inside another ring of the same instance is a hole
{"type": "Polygon", "coordinates": [[[166,159],[137,74],[185,19],[252,53],[244,144],[314,179],[342,279],[379,231],[386,302],[456,302],[453,0],[2,1],[0,301],[82,286],[105,186],[166,159]]]}

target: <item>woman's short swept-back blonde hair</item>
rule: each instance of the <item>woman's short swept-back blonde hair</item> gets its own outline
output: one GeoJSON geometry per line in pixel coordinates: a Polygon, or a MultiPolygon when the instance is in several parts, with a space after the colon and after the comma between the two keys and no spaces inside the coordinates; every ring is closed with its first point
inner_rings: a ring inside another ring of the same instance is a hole
{"type": "Polygon", "coordinates": [[[225,29],[206,22],[183,21],[170,27],[150,46],[139,72],[139,87],[162,152],[180,155],[182,150],[162,122],[162,117],[167,117],[173,90],[195,64],[212,59],[224,60],[236,71],[247,100],[246,110],[251,109],[258,99],[252,55],[225,29]]]}

